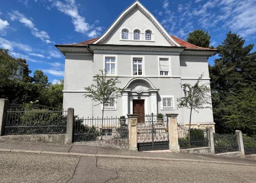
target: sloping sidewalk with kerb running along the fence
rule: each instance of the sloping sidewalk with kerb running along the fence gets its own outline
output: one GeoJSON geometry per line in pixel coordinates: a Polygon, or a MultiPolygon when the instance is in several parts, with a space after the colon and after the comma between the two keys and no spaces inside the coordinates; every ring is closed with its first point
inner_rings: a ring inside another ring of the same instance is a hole
{"type": "Polygon", "coordinates": [[[191,161],[205,163],[221,163],[221,164],[246,164],[256,166],[256,161],[238,158],[225,158],[212,155],[199,155],[190,153],[172,153],[168,150],[164,151],[148,151],[137,152],[129,149],[118,149],[111,147],[95,147],[84,146],[79,143],[72,145],[52,144],[52,143],[36,143],[11,141],[0,138],[0,152],[25,152],[25,153],[41,153],[41,154],[58,154],[73,156],[94,156],[109,157],[123,159],[150,159],[150,160],[166,160],[166,161],[191,161]]]}

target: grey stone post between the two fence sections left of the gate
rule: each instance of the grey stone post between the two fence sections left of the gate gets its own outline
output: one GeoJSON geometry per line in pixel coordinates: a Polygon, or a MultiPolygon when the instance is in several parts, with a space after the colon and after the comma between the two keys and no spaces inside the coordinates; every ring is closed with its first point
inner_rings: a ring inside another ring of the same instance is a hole
{"type": "Polygon", "coordinates": [[[73,124],[74,124],[74,109],[68,109],[68,116],[67,116],[67,130],[66,130],[66,137],[65,137],[65,144],[72,144],[73,141],[73,124]]]}

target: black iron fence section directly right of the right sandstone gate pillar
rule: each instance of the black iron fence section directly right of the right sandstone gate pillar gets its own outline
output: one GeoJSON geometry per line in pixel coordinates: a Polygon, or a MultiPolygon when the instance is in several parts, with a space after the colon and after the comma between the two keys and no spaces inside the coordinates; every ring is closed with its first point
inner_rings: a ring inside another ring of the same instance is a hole
{"type": "Polygon", "coordinates": [[[208,135],[206,128],[186,128],[178,124],[178,141],[181,149],[207,147],[208,135]]]}

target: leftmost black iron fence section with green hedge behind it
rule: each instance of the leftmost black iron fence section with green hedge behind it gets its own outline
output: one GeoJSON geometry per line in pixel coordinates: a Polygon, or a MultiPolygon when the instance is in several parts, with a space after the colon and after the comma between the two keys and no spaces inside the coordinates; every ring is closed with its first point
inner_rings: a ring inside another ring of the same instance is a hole
{"type": "Polygon", "coordinates": [[[67,111],[7,111],[5,135],[66,133],[67,111]]]}

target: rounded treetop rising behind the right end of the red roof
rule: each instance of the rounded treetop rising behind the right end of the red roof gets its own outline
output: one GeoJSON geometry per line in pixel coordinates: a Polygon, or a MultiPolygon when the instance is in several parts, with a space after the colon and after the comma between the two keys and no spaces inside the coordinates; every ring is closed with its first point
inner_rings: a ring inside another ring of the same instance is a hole
{"type": "Polygon", "coordinates": [[[197,29],[188,34],[187,42],[201,47],[209,47],[210,35],[208,34],[208,32],[197,29]]]}

